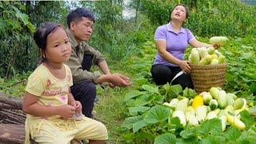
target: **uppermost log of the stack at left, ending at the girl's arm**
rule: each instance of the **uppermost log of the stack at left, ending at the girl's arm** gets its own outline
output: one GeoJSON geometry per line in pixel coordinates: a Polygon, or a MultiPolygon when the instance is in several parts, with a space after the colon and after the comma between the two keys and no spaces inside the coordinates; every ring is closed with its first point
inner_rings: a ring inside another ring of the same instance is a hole
{"type": "Polygon", "coordinates": [[[22,110],[22,98],[11,97],[0,92],[0,102],[14,106],[18,110],[22,110]]]}

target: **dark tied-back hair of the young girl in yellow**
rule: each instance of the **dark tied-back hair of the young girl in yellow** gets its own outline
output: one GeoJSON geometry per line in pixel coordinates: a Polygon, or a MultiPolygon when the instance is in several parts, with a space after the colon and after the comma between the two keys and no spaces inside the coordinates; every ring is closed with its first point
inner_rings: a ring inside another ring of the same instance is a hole
{"type": "MultiPolygon", "coordinates": [[[[46,45],[47,45],[47,38],[50,33],[54,32],[54,30],[57,30],[58,27],[62,27],[62,25],[54,22],[46,22],[42,24],[38,28],[38,30],[34,33],[34,41],[38,45],[39,51],[41,54],[45,54],[46,45]]],[[[46,58],[43,58],[43,55],[41,55],[41,59],[39,63],[42,63],[46,60],[46,58]]]]}

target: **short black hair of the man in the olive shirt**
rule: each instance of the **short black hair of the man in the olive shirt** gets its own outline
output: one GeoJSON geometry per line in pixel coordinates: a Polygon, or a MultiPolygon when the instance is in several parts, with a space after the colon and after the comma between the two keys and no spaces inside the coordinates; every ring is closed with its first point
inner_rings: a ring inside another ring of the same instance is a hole
{"type": "Polygon", "coordinates": [[[79,22],[82,17],[88,18],[94,22],[94,14],[90,13],[89,10],[78,7],[75,10],[71,10],[70,13],[67,14],[67,16],[66,16],[67,26],[69,26],[69,28],[70,28],[71,22],[79,22]]]}

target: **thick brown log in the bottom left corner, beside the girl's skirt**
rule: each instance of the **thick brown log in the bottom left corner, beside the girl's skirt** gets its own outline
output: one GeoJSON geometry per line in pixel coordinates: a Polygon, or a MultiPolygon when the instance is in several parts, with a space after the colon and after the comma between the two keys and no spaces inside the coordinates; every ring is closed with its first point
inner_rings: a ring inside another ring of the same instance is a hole
{"type": "Polygon", "coordinates": [[[0,124],[0,143],[23,143],[24,140],[24,125],[0,124]]]}

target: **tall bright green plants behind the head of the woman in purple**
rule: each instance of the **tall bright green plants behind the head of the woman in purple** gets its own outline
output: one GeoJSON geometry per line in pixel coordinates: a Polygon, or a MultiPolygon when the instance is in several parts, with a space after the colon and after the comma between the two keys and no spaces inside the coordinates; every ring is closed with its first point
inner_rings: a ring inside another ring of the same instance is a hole
{"type": "MultiPolygon", "coordinates": [[[[190,16],[185,27],[202,37],[225,35],[245,37],[255,35],[254,14],[256,6],[245,6],[236,0],[180,0],[190,9],[190,16]]],[[[170,22],[170,10],[176,1],[142,1],[142,11],[158,26],[170,22]]]]}

